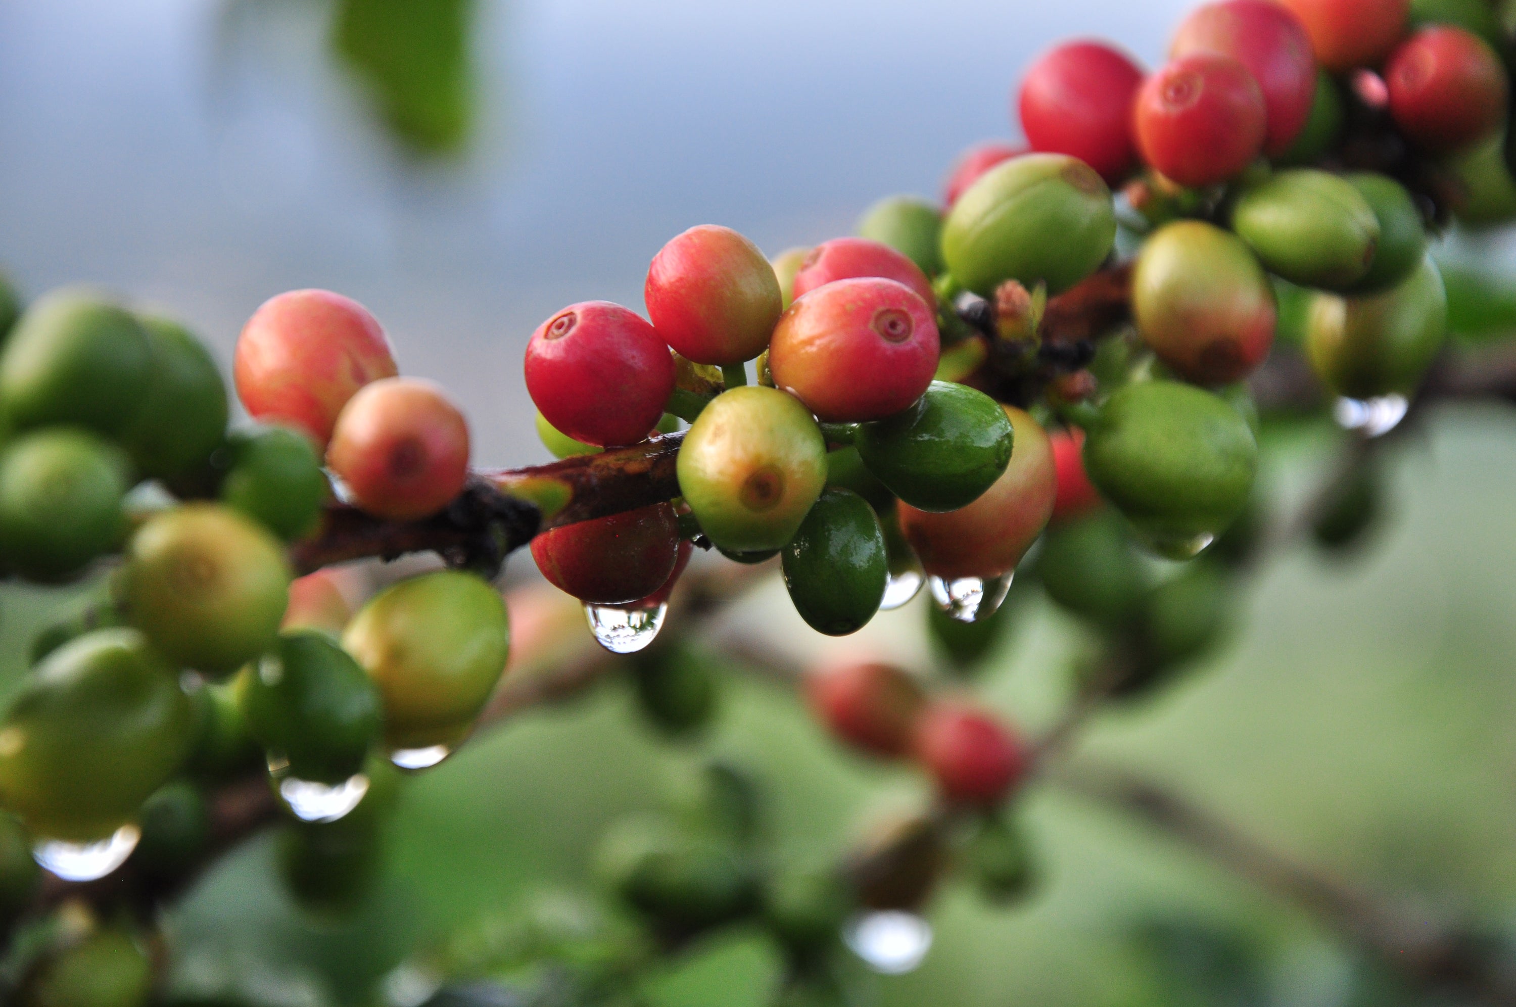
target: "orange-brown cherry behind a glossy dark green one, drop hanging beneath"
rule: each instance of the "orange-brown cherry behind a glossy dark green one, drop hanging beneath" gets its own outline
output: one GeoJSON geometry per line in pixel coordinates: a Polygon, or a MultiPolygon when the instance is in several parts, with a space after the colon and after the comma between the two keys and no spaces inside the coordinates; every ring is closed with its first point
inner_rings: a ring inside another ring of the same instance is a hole
{"type": "Polygon", "coordinates": [[[1014,570],[1052,516],[1058,478],[1048,434],[1026,413],[1002,408],[1016,429],[1016,450],[990,488],[948,513],[901,500],[901,531],[932,576],[988,579],[1014,570]]]}

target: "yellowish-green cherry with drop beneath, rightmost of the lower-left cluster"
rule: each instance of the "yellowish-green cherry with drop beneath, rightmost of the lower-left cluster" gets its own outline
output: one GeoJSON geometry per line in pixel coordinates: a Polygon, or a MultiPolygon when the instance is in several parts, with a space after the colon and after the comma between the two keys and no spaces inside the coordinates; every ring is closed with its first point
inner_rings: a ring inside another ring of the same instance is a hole
{"type": "Polygon", "coordinates": [[[394,584],[347,625],[343,648],[384,696],[391,748],[456,745],[494,692],[509,652],[505,599],[471,573],[394,584]]]}

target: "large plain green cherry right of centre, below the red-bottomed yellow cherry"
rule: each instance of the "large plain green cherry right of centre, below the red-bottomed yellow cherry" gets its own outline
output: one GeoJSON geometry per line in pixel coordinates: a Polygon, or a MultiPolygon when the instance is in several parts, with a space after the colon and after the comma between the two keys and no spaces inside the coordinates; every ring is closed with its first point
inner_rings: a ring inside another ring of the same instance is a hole
{"type": "Polygon", "coordinates": [[[1248,502],[1258,444],[1225,400],[1151,381],[1116,391],[1084,441],[1084,467],[1161,555],[1204,549],[1248,502]]]}

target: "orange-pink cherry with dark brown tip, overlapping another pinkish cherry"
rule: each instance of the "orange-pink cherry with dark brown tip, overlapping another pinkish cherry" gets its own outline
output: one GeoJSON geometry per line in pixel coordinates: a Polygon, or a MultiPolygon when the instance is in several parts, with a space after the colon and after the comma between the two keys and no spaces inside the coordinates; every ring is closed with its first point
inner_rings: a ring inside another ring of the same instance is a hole
{"type": "Polygon", "coordinates": [[[447,507],[468,478],[468,423],[440,387],[385,378],[343,408],[326,450],[353,504],[415,520],[447,507]]]}

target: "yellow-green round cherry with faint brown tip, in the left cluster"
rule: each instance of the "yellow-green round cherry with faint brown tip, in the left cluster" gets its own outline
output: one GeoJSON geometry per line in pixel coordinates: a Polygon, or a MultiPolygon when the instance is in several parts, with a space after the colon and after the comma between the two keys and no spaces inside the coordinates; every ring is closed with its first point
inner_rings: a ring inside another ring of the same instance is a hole
{"type": "Polygon", "coordinates": [[[127,620],[164,657],[233,672],[273,646],[290,604],[277,538],[236,511],[188,504],[143,525],[117,581],[127,620]]]}

